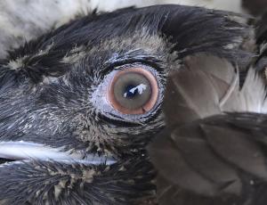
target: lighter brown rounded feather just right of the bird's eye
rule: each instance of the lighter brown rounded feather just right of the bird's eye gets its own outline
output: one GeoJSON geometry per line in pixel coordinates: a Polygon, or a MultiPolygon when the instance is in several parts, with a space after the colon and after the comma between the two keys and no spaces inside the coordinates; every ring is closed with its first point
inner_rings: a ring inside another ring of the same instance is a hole
{"type": "Polygon", "coordinates": [[[239,87],[236,78],[237,73],[228,61],[203,54],[188,57],[184,67],[169,78],[164,107],[167,125],[219,114],[224,101],[239,87]]]}

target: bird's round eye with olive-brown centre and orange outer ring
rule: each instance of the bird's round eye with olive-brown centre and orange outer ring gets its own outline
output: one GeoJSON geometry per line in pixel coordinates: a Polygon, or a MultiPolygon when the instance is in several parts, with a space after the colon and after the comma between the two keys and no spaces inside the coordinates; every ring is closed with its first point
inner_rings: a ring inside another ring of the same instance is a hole
{"type": "Polygon", "coordinates": [[[108,100],[124,114],[143,114],[150,111],[158,99],[158,81],[143,68],[119,70],[111,79],[108,100]]]}

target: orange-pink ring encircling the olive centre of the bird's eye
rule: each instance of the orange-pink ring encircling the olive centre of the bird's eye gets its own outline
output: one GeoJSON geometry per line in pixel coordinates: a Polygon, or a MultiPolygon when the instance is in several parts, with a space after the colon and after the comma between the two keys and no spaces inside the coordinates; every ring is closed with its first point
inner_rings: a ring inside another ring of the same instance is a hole
{"type": "Polygon", "coordinates": [[[150,111],[156,104],[158,100],[158,81],[157,78],[149,71],[145,70],[142,67],[136,67],[136,68],[130,68],[126,70],[119,70],[117,71],[116,75],[111,79],[111,82],[109,84],[108,92],[107,92],[107,99],[110,103],[110,105],[117,111],[123,113],[123,114],[132,114],[132,115],[138,115],[138,114],[144,114],[148,111],[150,111]],[[142,78],[146,78],[146,80],[149,82],[150,86],[150,99],[143,103],[142,106],[136,108],[136,109],[129,109],[123,106],[120,102],[117,101],[117,98],[115,96],[115,86],[117,83],[117,80],[125,74],[128,73],[134,73],[139,74],[142,76],[142,78]]]}

